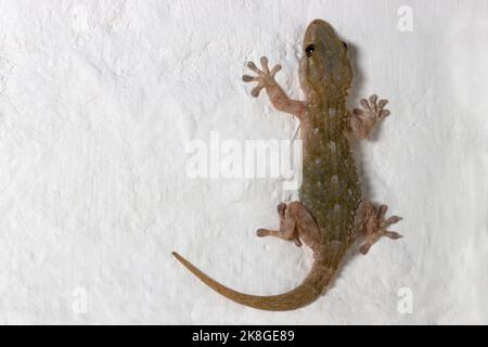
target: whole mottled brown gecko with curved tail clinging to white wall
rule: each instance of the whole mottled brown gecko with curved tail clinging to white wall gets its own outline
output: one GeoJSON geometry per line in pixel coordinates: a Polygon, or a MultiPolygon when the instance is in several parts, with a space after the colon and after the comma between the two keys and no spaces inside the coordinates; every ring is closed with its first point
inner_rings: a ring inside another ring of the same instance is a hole
{"type": "Polygon", "coordinates": [[[351,142],[367,139],[377,123],[390,112],[387,100],[373,94],[361,99],[361,108],[351,112],[346,100],[352,82],[347,44],[325,21],[312,21],[303,40],[299,82],[305,101],[290,99],[274,79],[281,69],[269,69],[268,59],[260,59],[261,68],[253,62],[247,67],[256,76],[244,75],[244,82],[257,82],[251,94],[257,98],[266,90],[278,111],[298,118],[303,141],[303,178],[299,201],[278,205],[279,228],[259,229],[257,235],[277,236],[306,244],[312,249],[309,274],[294,290],[271,296],[247,295],[210,279],[178,253],[172,255],[206,285],[224,297],[270,311],[301,308],[326,291],[336,275],[346,252],[358,240],[359,252],[365,255],[382,236],[400,239],[387,230],[401,218],[386,218],[387,206],[374,205],[362,196],[351,142]]]}

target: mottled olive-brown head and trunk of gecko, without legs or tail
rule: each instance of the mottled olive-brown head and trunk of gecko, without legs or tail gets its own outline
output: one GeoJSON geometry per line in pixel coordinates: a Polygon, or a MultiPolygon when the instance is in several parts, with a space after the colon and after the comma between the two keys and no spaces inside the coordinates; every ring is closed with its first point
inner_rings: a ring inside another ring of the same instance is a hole
{"type": "Polygon", "coordinates": [[[300,117],[304,163],[299,197],[319,226],[324,267],[334,271],[354,240],[354,219],[361,202],[350,141],[345,136],[352,72],[347,47],[322,21],[309,25],[304,50],[299,76],[307,102],[300,117]]]}

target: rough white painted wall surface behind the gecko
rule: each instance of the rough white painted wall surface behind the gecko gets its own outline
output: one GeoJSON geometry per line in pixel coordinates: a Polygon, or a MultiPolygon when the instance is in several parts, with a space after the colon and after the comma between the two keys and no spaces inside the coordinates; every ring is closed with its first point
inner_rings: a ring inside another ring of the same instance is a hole
{"type": "Polygon", "coordinates": [[[2,0],[0,322],[488,323],[487,33],[486,1],[2,0]],[[362,170],[406,237],[351,259],[313,305],[261,312],[170,254],[245,293],[290,290],[310,253],[255,236],[288,195],[275,179],[189,179],[184,149],[213,130],[292,139],[295,120],[241,75],[266,54],[298,98],[316,17],[351,47],[351,105],[390,101],[362,170]]]}

